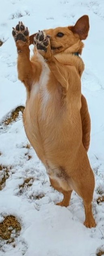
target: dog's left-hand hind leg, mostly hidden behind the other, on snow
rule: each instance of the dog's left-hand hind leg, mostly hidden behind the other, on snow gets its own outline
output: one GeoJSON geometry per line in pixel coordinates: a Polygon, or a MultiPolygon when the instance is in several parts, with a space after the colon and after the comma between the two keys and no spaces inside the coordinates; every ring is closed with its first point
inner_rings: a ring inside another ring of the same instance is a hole
{"type": "Polygon", "coordinates": [[[65,207],[69,206],[72,190],[66,191],[62,189],[62,187],[59,186],[58,182],[55,179],[50,178],[50,183],[52,187],[54,187],[54,189],[56,189],[58,192],[61,192],[64,196],[62,202],[57,203],[56,205],[65,206],[65,207]]]}

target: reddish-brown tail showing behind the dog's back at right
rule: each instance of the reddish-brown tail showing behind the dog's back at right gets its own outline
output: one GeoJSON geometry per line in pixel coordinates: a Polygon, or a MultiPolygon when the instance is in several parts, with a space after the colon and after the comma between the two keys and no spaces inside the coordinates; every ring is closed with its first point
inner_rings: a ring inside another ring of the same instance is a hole
{"type": "Polygon", "coordinates": [[[91,121],[87,107],[87,101],[85,97],[81,96],[81,123],[82,123],[82,142],[83,146],[88,151],[90,143],[90,131],[91,131],[91,121]]]}

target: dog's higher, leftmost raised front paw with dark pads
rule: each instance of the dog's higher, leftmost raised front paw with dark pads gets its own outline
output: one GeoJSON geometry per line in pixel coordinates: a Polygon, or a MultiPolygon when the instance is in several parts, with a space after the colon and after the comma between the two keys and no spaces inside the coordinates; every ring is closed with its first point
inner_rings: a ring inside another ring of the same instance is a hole
{"type": "Polygon", "coordinates": [[[19,24],[17,24],[15,28],[13,27],[12,35],[15,39],[15,42],[18,40],[27,42],[29,40],[29,30],[23,25],[22,21],[19,21],[19,24]]]}

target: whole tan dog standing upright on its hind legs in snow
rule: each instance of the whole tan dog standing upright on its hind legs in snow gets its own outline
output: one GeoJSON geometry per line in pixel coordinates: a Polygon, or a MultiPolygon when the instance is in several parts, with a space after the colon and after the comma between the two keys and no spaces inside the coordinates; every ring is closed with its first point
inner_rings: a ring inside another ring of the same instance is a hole
{"type": "Polygon", "coordinates": [[[75,26],[56,29],[56,37],[53,29],[39,31],[34,36],[31,60],[28,28],[19,22],[12,35],[18,52],[18,77],[27,90],[23,114],[27,137],[46,167],[51,185],[64,196],[58,205],[67,207],[75,190],[83,199],[84,225],[91,228],[96,227],[92,214],[95,179],[82,142],[84,64],[72,54],[81,54],[81,40],[88,30],[88,17],[84,15],[75,26]],[[69,48],[65,44],[68,37],[69,48]]]}

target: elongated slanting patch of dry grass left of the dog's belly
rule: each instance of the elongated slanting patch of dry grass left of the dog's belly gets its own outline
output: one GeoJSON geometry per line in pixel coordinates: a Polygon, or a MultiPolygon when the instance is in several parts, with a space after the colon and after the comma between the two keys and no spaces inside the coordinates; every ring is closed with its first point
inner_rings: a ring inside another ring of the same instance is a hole
{"type": "Polygon", "coordinates": [[[18,106],[17,108],[15,108],[15,110],[12,111],[10,117],[6,118],[3,123],[5,125],[9,125],[13,121],[16,121],[17,117],[19,116],[19,112],[21,111],[23,113],[24,108],[24,106],[18,106]]]}

